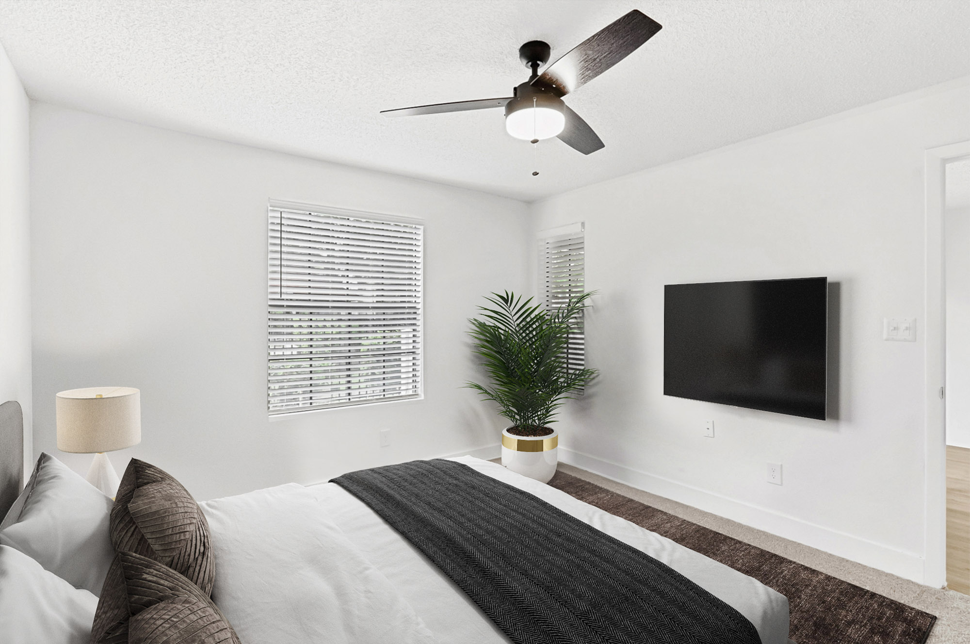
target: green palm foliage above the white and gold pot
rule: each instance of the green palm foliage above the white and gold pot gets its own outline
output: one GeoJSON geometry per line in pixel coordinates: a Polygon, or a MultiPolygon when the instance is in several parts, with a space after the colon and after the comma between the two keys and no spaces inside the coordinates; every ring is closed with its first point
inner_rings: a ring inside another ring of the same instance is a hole
{"type": "Polygon", "coordinates": [[[537,428],[553,422],[564,402],[598,373],[570,370],[566,362],[569,333],[593,294],[583,293],[551,311],[509,291],[486,296],[494,307],[478,307],[482,313],[469,320],[469,336],[491,386],[467,386],[498,403],[513,425],[537,428]]]}

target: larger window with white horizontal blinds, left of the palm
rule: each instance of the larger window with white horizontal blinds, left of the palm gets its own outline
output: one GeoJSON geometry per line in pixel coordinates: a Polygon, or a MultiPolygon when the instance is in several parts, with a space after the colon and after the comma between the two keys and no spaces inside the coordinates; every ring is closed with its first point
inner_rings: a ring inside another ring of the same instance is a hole
{"type": "Polygon", "coordinates": [[[271,204],[270,414],[421,396],[424,226],[271,204]]]}

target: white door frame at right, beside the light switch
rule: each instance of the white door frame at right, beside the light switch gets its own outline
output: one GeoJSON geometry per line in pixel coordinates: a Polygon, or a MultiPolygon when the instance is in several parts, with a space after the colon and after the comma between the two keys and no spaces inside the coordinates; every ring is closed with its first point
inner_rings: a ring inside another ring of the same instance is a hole
{"type": "MultiPolygon", "coordinates": [[[[925,383],[925,531],[923,583],[943,588],[947,584],[947,419],[940,395],[946,383],[946,289],[944,258],[944,208],[946,165],[970,156],[970,141],[933,147],[925,151],[925,279],[924,383],[925,383]]],[[[946,390],[944,395],[946,395],[946,390]]]]}

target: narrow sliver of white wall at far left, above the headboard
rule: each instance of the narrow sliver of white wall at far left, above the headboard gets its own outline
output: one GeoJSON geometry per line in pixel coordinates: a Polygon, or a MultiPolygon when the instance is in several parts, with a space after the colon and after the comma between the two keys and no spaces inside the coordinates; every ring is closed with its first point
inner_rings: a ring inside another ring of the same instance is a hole
{"type": "Polygon", "coordinates": [[[29,101],[0,47],[0,402],[23,408],[31,470],[29,101]]]}

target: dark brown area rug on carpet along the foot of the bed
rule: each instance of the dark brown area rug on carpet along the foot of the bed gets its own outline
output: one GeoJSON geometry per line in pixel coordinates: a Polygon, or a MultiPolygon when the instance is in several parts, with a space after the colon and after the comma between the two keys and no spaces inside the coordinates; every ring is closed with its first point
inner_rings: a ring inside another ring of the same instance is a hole
{"type": "Polygon", "coordinates": [[[549,485],[754,577],[789,599],[797,644],[923,644],[936,617],[581,478],[549,485]]]}

